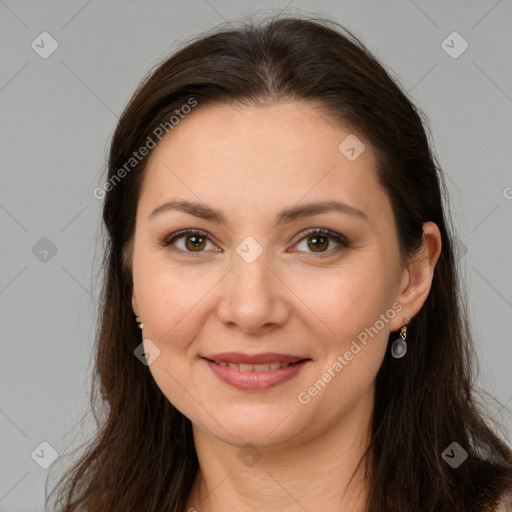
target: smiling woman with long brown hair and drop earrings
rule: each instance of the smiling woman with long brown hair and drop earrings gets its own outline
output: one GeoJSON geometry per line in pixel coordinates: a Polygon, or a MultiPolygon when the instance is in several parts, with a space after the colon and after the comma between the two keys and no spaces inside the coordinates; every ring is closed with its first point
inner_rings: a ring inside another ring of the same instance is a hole
{"type": "Polygon", "coordinates": [[[511,506],[421,115],[329,25],[203,35],[124,111],[95,191],[107,408],[62,510],[511,506]]]}

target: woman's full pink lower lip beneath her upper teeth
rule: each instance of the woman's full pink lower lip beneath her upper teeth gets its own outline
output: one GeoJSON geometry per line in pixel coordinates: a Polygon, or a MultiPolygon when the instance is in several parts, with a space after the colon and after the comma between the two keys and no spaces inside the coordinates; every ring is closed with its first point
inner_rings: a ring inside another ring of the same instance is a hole
{"type": "Polygon", "coordinates": [[[240,372],[229,366],[221,366],[204,357],[202,359],[221,381],[242,391],[264,391],[273,388],[295,377],[311,361],[307,359],[291,364],[286,368],[278,368],[268,372],[240,372]]]}

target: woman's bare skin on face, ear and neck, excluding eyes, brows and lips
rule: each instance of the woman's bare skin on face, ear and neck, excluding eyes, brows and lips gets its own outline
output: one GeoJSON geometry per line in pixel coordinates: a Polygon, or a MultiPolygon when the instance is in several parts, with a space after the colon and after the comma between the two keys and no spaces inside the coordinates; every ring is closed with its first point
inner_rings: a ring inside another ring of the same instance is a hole
{"type": "MultiPolygon", "coordinates": [[[[375,377],[390,332],[428,296],[441,236],[425,223],[422,250],[401,266],[391,203],[376,181],[369,142],[359,136],[366,149],[354,161],[338,150],[351,133],[301,101],[198,106],[150,157],[131,255],[132,306],[143,339],[160,350],[149,371],[193,425],[200,470],[187,511],[363,510],[363,467],[349,480],[369,441],[375,377]],[[177,211],[148,219],[170,199],[219,209],[228,225],[177,211]],[[328,200],[359,208],[368,221],[332,211],[274,223],[283,208],[328,200]],[[211,236],[199,249],[187,238],[162,246],[187,228],[211,236]],[[308,228],[344,235],[350,246],[335,251],[339,244],[327,238],[323,252],[315,252],[301,234],[308,228]],[[263,249],[252,263],[236,252],[248,236],[263,249]],[[378,334],[300,403],[299,393],[393,304],[401,311],[388,313],[378,334]],[[284,384],[242,391],[200,359],[228,351],[312,361],[284,384]],[[237,457],[246,443],[260,456],[254,465],[237,457]]],[[[402,364],[414,357],[414,333],[408,334],[402,364]]]]}

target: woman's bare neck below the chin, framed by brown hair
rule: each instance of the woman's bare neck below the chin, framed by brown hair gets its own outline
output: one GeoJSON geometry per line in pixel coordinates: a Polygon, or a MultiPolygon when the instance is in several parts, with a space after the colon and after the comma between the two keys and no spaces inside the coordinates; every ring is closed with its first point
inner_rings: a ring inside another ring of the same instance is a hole
{"type": "Polygon", "coordinates": [[[343,418],[333,418],[321,434],[279,447],[253,448],[259,458],[252,465],[240,460],[240,447],[194,425],[199,471],[185,511],[364,511],[365,462],[371,459],[365,461],[363,455],[371,410],[368,403],[359,403],[343,418]]]}

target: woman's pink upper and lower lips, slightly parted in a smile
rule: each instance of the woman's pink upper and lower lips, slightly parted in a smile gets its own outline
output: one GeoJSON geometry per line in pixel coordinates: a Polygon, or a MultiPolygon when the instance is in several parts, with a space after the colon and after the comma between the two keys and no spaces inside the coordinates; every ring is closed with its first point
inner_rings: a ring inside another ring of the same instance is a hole
{"type": "MultiPolygon", "coordinates": [[[[291,361],[281,361],[279,354],[258,354],[252,357],[240,357],[230,354],[217,354],[214,357],[217,361],[233,362],[233,363],[246,363],[246,364],[261,364],[268,362],[289,362],[290,365],[286,368],[278,368],[277,370],[269,371],[238,371],[229,366],[221,366],[207,358],[202,358],[206,362],[211,371],[223,382],[233,386],[236,389],[243,391],[264,391],[274,386],[282,384],[293,377],[295,377],[304,366],[309,363],[310,359],[301,359],[299,357],[285,356],[291,361]],[[232,357],[227,357],[231,355],[232,357]],[[219,357],[222,356],[222,357],[219,357]],[[271,356],[271,357],[269,357],[271,356]],[[218,359],[217,359],[218,358],[218,359]],[[230,360],[231,359],[231,360],[230,360]],[[237,359],[237,360],[235,360],[237,359]]],[[[281,356],[283,356],[281,354],[281,356]]]]}

